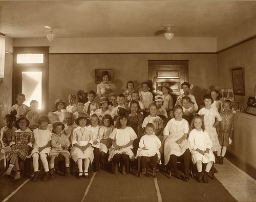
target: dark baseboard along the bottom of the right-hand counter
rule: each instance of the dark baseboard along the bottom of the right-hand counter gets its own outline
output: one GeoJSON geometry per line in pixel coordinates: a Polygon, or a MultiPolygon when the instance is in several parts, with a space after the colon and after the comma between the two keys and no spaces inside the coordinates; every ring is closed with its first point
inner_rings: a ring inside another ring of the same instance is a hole
{"type": "Polygon", "coordinates": [[[225,154],[225,158],[230,161],[232,164],[246,172],[250,175],[253,179],[256,179],[256,169],[246,163],[245,161],[239,159],[236,155],[232,154],[231,152],[227,151],[225,154]]]}

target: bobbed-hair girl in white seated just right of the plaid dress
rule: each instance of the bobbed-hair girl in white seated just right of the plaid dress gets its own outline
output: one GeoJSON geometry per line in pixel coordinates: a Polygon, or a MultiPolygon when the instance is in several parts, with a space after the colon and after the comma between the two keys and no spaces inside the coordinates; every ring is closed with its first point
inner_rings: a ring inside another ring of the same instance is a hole
{"type": "Polygon", "coordinates": [[[45,177],[43,181],[48,181],[50,177],[49,165],[47,161],[47,155],[49,155],[51,150],[51,137],[52,132],[47,128],[49,124],[49,118],[46,115],[41,115],[38,118],[39,127],[34,129],[34,144],[33,150],[31,152],[33,158],[33,168],[34,168],[34,176],[32,178],[33,182],[36,182],[38,179],[38,160],[40,156],[40,160],[42,162],[42,166],[45,170],[45,177]]]}

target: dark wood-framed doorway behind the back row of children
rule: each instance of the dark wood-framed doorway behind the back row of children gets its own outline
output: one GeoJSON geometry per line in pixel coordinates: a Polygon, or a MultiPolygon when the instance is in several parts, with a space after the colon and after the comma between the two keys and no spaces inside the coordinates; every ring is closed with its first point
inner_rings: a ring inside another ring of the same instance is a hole
{"type": "Polygon", "coordinates": [[[174,103],[180,95],[180,84],[188,82],[188,60],[148,60],[148,82],[154,96],[161,95],[158,86],[167,82],[174,103]]]}

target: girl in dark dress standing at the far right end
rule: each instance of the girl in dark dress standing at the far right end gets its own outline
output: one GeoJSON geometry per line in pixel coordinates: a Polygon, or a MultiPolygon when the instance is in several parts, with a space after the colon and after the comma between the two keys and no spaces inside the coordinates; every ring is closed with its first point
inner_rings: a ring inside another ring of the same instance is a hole
{"type": "Polygon", "coordinates": [[[217,151],[216,164],[223,164],[227,146],[230,145],[234,129],[234,116],[230,111],[231,101],[225,100],[222,104],[222,108],[224,110],[220,113],[222,121],[219,123],[219,128],[217,128],[218,139],[221,147],[217,151]]]}

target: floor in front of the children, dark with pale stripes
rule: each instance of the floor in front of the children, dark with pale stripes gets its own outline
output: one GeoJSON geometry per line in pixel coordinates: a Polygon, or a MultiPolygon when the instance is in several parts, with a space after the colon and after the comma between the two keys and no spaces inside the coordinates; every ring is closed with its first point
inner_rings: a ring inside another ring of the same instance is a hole
{"type": "MultiPolygon", "coordinates": [[[[2,166],[2,165],[1,165],[2,166]]],[[[90,178],[55,174],[48,182],[32,182],[22,177],[18,183],[0,176],[2,201],[255,201],[256,183],[253,178],[226,159],[216,165],[218,180],[199,184],[190,178],[183,182],[166,173],[157,178],[136,173],[113,175],[104,170],[91,173],[90,178]],[[234,180],[233,175],[240,176],[234,180]],[[225,188],[224,188],[225,187],[225,188]]],[[[1,168],[2,170],[2,168],[1,168]]],[[[40,177],[43,173],[41,173],[40,177]]]]}

